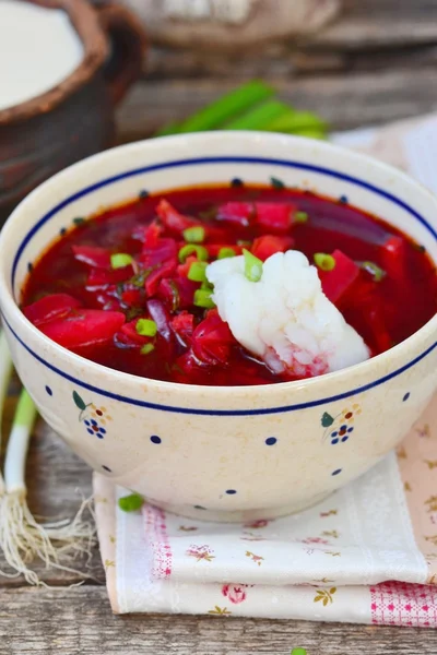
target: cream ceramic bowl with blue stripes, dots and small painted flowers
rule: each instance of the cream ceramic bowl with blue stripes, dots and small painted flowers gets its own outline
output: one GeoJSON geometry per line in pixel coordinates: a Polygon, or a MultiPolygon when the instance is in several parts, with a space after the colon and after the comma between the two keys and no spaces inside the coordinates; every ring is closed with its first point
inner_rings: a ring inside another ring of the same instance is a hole
{"type": "Polygon", "coordinates": [[[342,371],[211,388],[142,379],[69,353],[24,318],[20,289],[33,262],[78,216],[144,189],[272,177],[343,196],[437,260],[437,200],[420,184],[326,143],[257,132],[167,136],[95,155],[33,191],[0,236],[4,329],[40,415],[95,471],[186,516],[251,521],[297,512],[370,468],[437,386],[437,318],[342,371]],[[339,431],[345,438],[335,439],[339,431]]]}

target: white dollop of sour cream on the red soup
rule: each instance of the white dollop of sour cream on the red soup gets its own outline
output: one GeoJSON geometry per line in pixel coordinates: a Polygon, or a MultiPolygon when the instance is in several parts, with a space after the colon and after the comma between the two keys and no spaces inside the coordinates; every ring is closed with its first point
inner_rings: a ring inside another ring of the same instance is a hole
{"type": "Polygon", "coordinates": [[[206,277],[234,337],[274,372],[320,376],[370,356],[323,294],[316,266],[297,250],[265,260],[258,282],[246,277],[243,255],[213,262],[206,277]]]}

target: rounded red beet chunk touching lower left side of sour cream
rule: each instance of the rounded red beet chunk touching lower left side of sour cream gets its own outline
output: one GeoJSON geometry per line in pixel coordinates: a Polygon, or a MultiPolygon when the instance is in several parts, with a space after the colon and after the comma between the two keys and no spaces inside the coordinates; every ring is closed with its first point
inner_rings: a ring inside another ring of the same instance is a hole
{"type": "Polygon", "coordinates": [[[192,334],[193,354],[211,366],[228,364],[231,346],[235,343],[228,324],[222,321],[216,310],[209,311],[192,334]]]}

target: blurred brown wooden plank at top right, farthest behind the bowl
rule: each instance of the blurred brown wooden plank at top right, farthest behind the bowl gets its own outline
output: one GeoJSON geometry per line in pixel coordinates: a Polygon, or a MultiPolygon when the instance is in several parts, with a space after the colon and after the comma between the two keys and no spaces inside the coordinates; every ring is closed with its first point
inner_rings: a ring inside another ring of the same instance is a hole
{"type": "Polygon", "coordinates": [[[430,66],[437,43],[434,0],[344,0],[342,14],[319,33],[243,52],[204,52],[154,47],[150,79],[290,75],[323,70],[375,70],[430,66]]]}

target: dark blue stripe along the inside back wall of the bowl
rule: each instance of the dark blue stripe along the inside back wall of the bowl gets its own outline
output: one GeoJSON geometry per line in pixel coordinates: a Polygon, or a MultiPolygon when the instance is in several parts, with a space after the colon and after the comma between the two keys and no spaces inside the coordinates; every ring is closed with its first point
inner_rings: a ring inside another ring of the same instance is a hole
{"type": "Polygon", "coordinates": [[[99,182],[95,182],[94,184],[91,184],[90,187],[85,187],[84,189],[82,189],[81,191],[78,191],[76,193],[74,193],[73,195],[70,195],[69,198],[66,198],[66,200],[63,200],[62,202],[57,204],[55,207],[52,207],[49,212],[47,212],[47,214],[45,214],[34,225],[34,227],[26,234],[26,236],[24,237],[24,239],[21,242],[21,245],[16,251],[16,254],[14,257],[13,264],[12,264],[12,274],[11,274],[12,288],[14,287],[16,267],[19,265],[20,258],[23,254],[25,247],[31,241],[32,237],[35,236],[35,234],[39,230],[40,227],[43,227],[43,225],[45,225],[47,223],[47,221],[52,218],[58,212],[60,212],[61,210],[67,207],[69,204],[75,202],[76,200],[83,198],[84,195],[87,195],[88,193],[93,193],[93,191],[97,191],[98,189],[102,189],[103,187],[107,187],[108,184],[113,184],[114,182],[119,182],[120,180],[123,180],[123,179],[127,179],[127,178],[130,178],[133,176],[152,172],[154,170],[163,170],[165,168],[177,168],[177,167],[181,167],[181,166],[193,166],[193,165],[199,165],[199,164],[202,164],[202,165],[204,165],[204,164],[263,164],[263,165],[265,165],[267,164],[270,166],[284,166],[286,168],[298,168],[300,170],[318,172],[321,175],[327,175],[332,178],[344,180],[345,182],[351,182],[352,184],[356,184],[357,187],[362,187],[363,189],[373,191],[374,193],[380,195],[381,198],[385,198],[386,200],[389,200],[390,202],[402,207],[409,214],[411,214],[414,218],[416,218],[416,221],[418,221],[437,240],[437,231],[432,227],[432,225],[429,225],[429,223],[421,214],[418,214],[415,210],[413,210],[412,206],[410,206],[409,204],[403,202],[403,200],[400,200],[392,193],[389,193],[388,191],[385,191],[383,189],[380,189],[379,187],[375,187],[374,184],[370,184],[369,182],[366,182],[364,180],[361,180],[359,178],[355,178],[353,176],[346,175],[344,172],[339,172],[338,170],[331,170],[330,168],[326,168],[322,166],[314,166],[311,164],[304,164],[302,162],[294,162],[294,160],[288,160],[288,159],[273,159],[273,158],[269,158],[269,157],[231,157],[231,156],[227,156],[227,157],[197,157],[197,158],[191,158],[191,159],[175,159],[173,162],[164,162],[162,164],[153,164],[151,166],[144,166],[142,168],[134,168],[132,170],[127,170],[125,172],[120,172],[119,175],[113,176],[110,178],[103,179],[99,182]]]}

